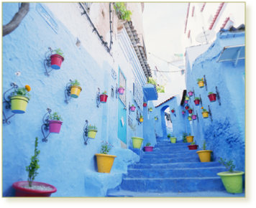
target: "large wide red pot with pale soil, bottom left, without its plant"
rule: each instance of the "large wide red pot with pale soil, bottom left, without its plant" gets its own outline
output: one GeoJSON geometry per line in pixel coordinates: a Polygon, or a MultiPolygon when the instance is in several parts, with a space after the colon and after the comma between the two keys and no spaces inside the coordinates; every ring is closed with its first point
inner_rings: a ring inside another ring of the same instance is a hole
{"type": "Polygon", "coordinates": [[[22,188],[22,186],[26,186],[28,184],[29,184],[28,181],[18,181],[16,183],[12,184],[12,187],[15,189],[15,197],[50,197],[50,194],[57,192],[57,189],[55,188],[55,186],[37,182],[37,181],[33,181],[32,185],[47,186],[47,187],[52,188],[52,190],[41,191],[41,190],[22,188]]]}

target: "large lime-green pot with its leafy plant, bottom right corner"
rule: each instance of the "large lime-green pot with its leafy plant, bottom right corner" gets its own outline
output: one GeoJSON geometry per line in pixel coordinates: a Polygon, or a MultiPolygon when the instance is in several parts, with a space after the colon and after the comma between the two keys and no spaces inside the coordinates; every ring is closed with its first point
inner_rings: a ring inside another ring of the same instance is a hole
{"type": "Polygon", "coordinates": [[[226,159],[219,160],[219,163],[227,168],[227,172],[220,172],[217,175],[221,176],[221,181],[224,184],[228,193],[237,194],[242,193],[242,175],[243,171],[233,171],[235,168],[233,161],[226,161],[226,159]]]}

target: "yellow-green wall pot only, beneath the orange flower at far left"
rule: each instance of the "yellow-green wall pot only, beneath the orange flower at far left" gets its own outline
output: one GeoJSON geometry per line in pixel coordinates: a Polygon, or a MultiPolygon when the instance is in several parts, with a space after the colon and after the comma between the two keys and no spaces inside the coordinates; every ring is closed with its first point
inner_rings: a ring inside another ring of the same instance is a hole
{"type": "Polygon", "coordinates": [[[29,98],[23,95],[14,95],[11,97],[12,113],[25,113],[29,103],[29,98]]]}

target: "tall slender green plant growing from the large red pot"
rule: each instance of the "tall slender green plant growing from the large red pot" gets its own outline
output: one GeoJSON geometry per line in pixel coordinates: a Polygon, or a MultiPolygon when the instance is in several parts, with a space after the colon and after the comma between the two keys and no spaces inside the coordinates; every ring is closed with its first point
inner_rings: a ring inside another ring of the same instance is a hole
{"type": "Polygon", "coordinates": [[[37,156],[40,153],[40,150],[37,150],[37,142],[38,138],[35,138],[35,152],[34,152],[34,156],[31,157],[31,162],[29,164],[29,166],[26,166],[26,171],[29,173],[28,179],[27,181],[29,182],[29,187],[32,186],[32,182],[35,179],[35,176],[37,176],[37,169],[40,168],[39,164],[37,164],[39,162],[39,159],[37,158],[37,156]]]}

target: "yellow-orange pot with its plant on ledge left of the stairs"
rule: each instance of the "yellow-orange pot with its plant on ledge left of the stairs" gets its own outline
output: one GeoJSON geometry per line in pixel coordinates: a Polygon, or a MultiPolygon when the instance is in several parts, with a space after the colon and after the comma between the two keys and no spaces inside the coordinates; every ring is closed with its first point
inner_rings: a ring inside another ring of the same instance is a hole
{"type": "Polygon", "coordinates": [[[96,153],[96,160],[97,160],[97,166],[98,166],[98,172],[109,174],[111,171],[111,168],[114,164],[114,159],[116,156],[109,155],[109,151],[111,150],[112,146],[111,143],[108,143],[107,141],[101,141],[101,151],[100,153],[96,153]]]}

